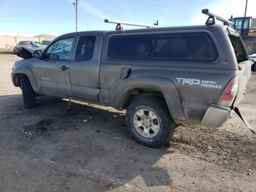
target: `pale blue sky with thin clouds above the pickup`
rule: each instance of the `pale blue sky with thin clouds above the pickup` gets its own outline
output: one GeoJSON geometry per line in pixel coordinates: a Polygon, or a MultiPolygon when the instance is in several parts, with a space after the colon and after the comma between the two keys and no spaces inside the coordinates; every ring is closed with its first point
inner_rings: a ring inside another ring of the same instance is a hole
{"type": "MultiPolygon", "coordinates": [[[[0,0],[0,35],[59,36],[76,30],[75,0],[0,0]]],[[[204,24],[208,8],[224,18],[244,16],[246,0],[78,0],[78,31],[114,30],[104,19],[159,26],[204,24]]],[[[247,16],[256,16],[248,0],[247,16]]],[[[134,28],[124,26],[124,29],[134,28]]]]}

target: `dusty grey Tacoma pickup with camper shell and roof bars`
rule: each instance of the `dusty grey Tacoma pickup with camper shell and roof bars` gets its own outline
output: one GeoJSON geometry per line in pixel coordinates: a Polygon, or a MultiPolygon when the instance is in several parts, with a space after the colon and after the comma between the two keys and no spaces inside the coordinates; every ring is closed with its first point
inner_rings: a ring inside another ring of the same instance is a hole
{"type": "Polygon", "coordinates": [[[168,142],[179,123],[217,128],[233,112],[254,132],[237,108],[251,74],[246,47],[230,21],[202,12],[206,25],[123,30],[134,23],[105,20],[116,30],[64,34],[15,62],[12,82],[25,108],[52,95],[126,109],[130,135],[149,147],[168,142]]]}

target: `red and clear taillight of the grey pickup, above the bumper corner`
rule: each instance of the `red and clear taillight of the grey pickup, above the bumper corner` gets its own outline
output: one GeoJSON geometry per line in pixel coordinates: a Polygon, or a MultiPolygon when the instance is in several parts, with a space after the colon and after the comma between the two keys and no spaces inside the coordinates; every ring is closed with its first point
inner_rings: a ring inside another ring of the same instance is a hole
{"type": "Polygon", "coordinates": [[[222,92],[218,105],[230,107],[234,102],[238,90],[238,76],[235,76],[228,82],[224,91],[222,92]]]}

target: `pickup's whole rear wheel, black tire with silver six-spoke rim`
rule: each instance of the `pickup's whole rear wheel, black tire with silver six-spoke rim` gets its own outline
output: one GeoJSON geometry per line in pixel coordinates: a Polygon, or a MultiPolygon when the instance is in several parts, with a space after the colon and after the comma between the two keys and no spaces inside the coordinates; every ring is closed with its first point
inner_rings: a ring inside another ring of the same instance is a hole
{"type": "Polygon", "coordinates": [[[166,103],[158,97],[134,100],[126,111],[126,124],[132,138],[148,147],[168,142],[176,128],[166,103]]]}

